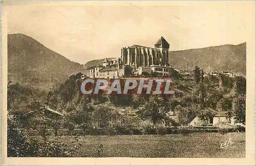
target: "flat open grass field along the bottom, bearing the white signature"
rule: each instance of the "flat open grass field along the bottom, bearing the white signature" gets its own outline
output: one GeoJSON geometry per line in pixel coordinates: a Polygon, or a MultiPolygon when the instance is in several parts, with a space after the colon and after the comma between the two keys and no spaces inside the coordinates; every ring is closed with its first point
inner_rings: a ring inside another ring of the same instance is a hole
{"type": "MultiPolygon", "coordinates": [[[[54,137],[52,137],[54,139],[54,137]]],[[[76,157],[96,157],[97,147],[103,145],[103,157],[200,157],[245,158],[245,133],[190,133],[161,135],[80,136],[82,148],[76,157]],[[221,143],[231,138],[227,150],[221,143]]],[[[74,136],[62,136],[66,144],[74,136]]]]}

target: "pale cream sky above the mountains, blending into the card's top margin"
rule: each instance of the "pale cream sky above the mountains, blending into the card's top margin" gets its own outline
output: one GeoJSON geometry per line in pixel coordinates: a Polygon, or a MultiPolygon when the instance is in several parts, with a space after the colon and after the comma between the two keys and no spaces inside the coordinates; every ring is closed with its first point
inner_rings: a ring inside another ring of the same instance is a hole
{"type": "MultiPolygon", "coordinates": [[[[253,3],[253,2],[252,2],[253,3]]],[[[8,34],[23,33],[68,59],[120,57],[133,44],[170,51],[246,42],[251,2],[12,2],[8,34]]]]}

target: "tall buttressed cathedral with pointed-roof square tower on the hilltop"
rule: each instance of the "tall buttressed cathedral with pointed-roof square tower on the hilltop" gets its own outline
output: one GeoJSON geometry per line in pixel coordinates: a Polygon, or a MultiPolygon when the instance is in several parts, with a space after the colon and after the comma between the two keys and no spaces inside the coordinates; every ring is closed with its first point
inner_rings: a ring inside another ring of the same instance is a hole
{"type": "Polygon", "coordinates": [[[122,48],[121,61],[136,70],[138,67],[151,67],[153,65],[170,66],[168,64],[169,43],[161,37],[154,48],[132,45],[122,48]]]}

